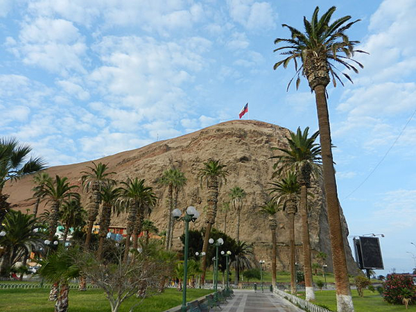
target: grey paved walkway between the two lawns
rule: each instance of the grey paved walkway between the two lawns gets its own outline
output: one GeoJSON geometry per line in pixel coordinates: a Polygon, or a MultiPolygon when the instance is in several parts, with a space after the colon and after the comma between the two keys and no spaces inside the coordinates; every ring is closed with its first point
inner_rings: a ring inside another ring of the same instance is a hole
{"type": "Polygon", "coordinates": [[[234,297],[226,304],[221,304],[221,312],[304,312],[270,291],[239,291],[234,290],[234,297]]]}

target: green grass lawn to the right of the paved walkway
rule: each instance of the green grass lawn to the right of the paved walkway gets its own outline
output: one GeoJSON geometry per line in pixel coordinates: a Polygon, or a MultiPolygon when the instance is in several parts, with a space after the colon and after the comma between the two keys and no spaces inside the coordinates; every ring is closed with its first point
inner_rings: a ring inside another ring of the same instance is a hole
{"type": "MultiPolygon", "coordinates": [[[[304,294],[302,294],[304,295],[304,294]]],[[[303,297],[304,298],[304,297],[303,297]]],[[[364,297],[359,297],[355,289],[352,290],[352,300],[355,312],[405,312],[416,311],[416,306],[409,306],[406,310],[404,305],[388,304],[377,292],[365,290],[364,297]]],[[[336,311],[335,291],[315,291],[315,303],[324,304],[332,311],[336,311]]]]}

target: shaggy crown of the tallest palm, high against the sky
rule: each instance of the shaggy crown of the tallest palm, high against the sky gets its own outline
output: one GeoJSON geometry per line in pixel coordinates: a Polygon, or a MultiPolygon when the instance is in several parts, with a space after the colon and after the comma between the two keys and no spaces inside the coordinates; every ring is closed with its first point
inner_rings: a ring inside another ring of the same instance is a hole
{"type": "MultiPolygon", "coordinates": [[[[288,56],[284,60],[277,62],[273,68],[277,69],[280,65],[286,68],[289,62],[293,60],[296,71],[295,76],[297,76],[296,87],[299,87],[301,74],[306,76],[311,89],[314,89],[316,85],[327,86],[330,81],[329,74],[331,74],[334,86],[336,86],[336,80],[343,85],[343,81],[336,73],[335,64],[341,64],[355,73],[358,73],[356,65],[363,68],[360,62],[353,59],[355,52],[365,53],[355,49],[355,46],[360,42],[349,40],[345,34],[345,31],[357,21],[360,21],[360,19],[349,21],[352,17],[347,15],[330,22],[335,10],[335,6],[329,8],[318,19],[319,8],[317,6],[311,21],[304,17],[304,33],[286,24],[282,25],[291,31],[291,38],[277,38],[275,44],[284,42],[286,45],[275,49],[275,52],[283,51],[280,54],[288,56]],[[300,66],[299,62],[301,63],[300,66]]],[[[352,81],[347,73],[342,74],[345,78],[352,81]]],[[[289,82],[288,87],[291,85],[293,78],[289,82]]]]}

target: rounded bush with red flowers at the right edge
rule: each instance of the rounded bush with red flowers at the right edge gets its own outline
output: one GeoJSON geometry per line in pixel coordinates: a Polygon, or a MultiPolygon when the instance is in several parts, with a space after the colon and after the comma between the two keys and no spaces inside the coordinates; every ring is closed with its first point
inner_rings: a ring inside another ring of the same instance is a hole
{"type": "Polygon", "coordinates": [[[403,298],[409,302],[416,301],[416,285],[412,277],[402,274],[389,274],[384,284],[384,300],[391,304],[402,304],[403,298]]]}

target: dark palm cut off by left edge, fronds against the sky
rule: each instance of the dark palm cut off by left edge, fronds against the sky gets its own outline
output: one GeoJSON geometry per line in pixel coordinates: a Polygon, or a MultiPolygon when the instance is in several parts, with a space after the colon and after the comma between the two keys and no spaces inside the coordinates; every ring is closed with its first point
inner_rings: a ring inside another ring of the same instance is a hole
{"type": "MultiPolygon", "coordinates": [[[[9,180],[17,180],[24,175],[35,173],[46,168],[46,162],[40,157],[29,157],[32,148],[20,144],[16,138],[0,138],[0,196],[3,187],[9,180]]],[[[7,214],[6,200],[0,202],[0,224],[7,214]]]]}

